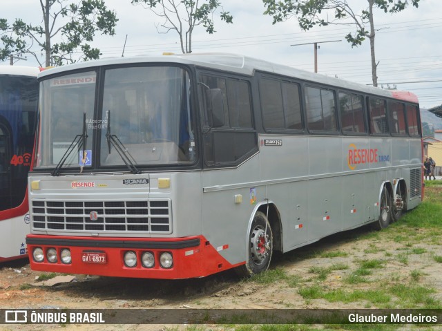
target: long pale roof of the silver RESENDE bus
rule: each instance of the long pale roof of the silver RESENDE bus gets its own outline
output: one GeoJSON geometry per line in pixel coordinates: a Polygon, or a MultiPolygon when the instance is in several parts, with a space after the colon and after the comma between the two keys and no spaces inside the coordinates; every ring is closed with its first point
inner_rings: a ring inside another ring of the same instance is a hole
{"type": "Polygon", "coordinates": [[[309,71],[296,69],[291,66],[274,64],[265,60],[230,53],[190,53],[155,57],[147,55],[137,57],[109,57],[95,61],[81,62],[77,64],[69,64],[68,66],[51,68],[50,70],[42,71],[39,74],[39,77],[63,73],[66,70],[93,68],[95,66],[111,66],[115,64],[139,64],[146,62],[193,64],[195,66],[202,66],[205,68],[218,69],[227,72],[230,71],[232,73],[242,75],[253,75],[256,70],[259,70],[268,73],[276,73],[278,75],[285,75],[288,77],[296,77],[298,79],[313,83],[326,84],[329,86],[336,86],[338,88],[345,88],[353,91],[361,91],[363,93],[380,95],[383,97],[392,97],[398,100],[418,103],[416,95],[410,92],[391,91],[364,84],[348,82],[343,79],[328,77],[318,73],[311,73],[309,71]]]}

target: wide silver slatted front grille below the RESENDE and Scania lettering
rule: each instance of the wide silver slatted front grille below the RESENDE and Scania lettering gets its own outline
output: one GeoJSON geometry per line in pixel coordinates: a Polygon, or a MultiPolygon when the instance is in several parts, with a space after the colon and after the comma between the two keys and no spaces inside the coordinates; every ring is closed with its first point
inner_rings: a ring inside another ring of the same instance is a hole
{"type": "Polygon", "coordinates": [[[32,201],[36,230],[171,234],[171,200],[32,201]]]}

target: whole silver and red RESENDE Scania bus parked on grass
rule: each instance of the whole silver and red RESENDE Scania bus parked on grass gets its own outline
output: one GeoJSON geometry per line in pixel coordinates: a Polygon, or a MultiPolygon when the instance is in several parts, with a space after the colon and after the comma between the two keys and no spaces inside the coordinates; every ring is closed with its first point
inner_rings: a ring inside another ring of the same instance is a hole
{"type": "Polygon", "coordinates": [[[419,104],[238,55],[102,59],[39,75],[31,267],[258,274],[421,202],[419,104]]]}

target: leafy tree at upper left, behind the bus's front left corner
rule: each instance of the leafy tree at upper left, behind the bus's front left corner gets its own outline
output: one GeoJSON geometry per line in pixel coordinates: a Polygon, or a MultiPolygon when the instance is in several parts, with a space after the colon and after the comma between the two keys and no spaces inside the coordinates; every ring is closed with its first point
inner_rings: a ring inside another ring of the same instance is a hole
{"type": "Polygon", "coordinates": [[[0,19],[0,40],[3,43],[0,61],[26,54],[34,56],[40,66],[98,59],[100,50],[90,43],[96,32],[115,35],[118,21],[115,12],[108,10],[103,0],[66,1],[40,0],[42,26],[28,24],[19,18],[13,23],[0,19]],[[39,59],[35,45],[45,54],[44,62],[39,59]],[[75,59],[73,55],[79,50],[82,55],[75,59]]]}

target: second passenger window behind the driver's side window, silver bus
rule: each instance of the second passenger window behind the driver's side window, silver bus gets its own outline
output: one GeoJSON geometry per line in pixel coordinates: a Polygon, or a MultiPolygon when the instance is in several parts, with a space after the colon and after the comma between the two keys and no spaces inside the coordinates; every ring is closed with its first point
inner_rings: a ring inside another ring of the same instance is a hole
{"type": "Polygon", "coordinates": [[[305,104],[309,130],[336,131],[336,106],[333,91],[307,87],[305,88],[305,104]]]}

